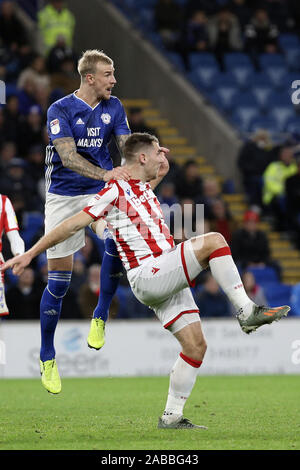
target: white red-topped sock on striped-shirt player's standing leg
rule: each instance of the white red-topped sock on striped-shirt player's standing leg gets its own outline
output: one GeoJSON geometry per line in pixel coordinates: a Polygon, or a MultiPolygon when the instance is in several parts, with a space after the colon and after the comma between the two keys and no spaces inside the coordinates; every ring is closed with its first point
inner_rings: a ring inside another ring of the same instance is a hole
{"type": "Polygon", "coordinates": [[[180,353],[170,374],[168,399],[162,417],[165,423],[174,422],[182,416],[184,405],[194,387],[201,363],[180,353]]]}

